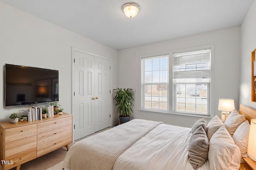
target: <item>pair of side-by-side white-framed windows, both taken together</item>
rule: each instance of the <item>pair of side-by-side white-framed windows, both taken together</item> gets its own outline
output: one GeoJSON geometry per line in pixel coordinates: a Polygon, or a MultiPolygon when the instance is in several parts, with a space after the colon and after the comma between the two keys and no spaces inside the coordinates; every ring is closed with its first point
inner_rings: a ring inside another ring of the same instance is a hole
{"type": "Polygon", "coordinates": [[[169,55],[142,57],[141,108],[210,116],[212,48],[179,50],[170,59],[169,55]]]}

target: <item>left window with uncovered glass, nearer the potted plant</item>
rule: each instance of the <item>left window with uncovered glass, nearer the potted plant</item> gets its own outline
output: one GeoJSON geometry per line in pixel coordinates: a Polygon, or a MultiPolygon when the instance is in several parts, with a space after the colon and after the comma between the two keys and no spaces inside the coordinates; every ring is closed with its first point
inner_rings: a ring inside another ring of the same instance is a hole
{"type": "Polygon", "coordinates": [[[142,108],[168,110],[168,55],[142,58],[142,108]]]}

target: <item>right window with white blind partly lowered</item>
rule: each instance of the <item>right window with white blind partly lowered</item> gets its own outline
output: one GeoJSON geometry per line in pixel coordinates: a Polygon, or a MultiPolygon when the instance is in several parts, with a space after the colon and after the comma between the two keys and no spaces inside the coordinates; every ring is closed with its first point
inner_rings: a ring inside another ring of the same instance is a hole
{"type": "Polygon", "coordinates": [[[211,49],[173,54],[174,112],[210,115],[211,49]]]}

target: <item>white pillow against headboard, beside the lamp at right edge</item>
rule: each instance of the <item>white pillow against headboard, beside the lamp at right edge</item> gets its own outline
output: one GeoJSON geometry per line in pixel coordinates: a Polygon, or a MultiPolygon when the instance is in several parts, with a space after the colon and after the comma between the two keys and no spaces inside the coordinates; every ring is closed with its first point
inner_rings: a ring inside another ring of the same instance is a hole
{"type": "Polygon", "coordinates": [[[250,123],[248,120],[244,121],[235,131],[233,135],[234,143],[239,147],[241,153],[241,163],[245,161],[242,157],[247,157],[247,147],[249,139],[250,123]]]}

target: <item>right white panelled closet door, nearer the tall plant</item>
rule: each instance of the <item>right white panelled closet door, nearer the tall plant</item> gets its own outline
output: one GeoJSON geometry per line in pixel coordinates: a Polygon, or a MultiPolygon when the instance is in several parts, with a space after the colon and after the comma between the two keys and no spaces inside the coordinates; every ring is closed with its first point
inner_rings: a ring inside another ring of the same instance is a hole
{"type": "Polygon", "coordinates": [[[110,126],[110,61],[95,57],[95,131],[110,126]]]}

